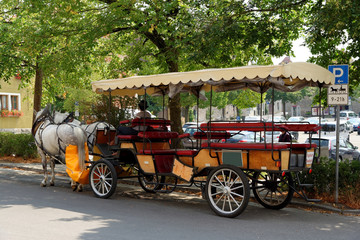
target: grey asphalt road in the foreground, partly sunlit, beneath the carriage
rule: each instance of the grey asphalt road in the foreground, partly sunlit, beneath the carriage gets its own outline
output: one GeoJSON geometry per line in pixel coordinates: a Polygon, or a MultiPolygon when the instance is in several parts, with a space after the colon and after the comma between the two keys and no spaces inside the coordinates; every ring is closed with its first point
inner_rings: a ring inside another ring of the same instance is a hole
{"type": "Polygon", "coordinates": [[[358,239],[360,216],[250,202],[237,218],[215,215],[187,194],[147,194],[121,185],[111,199],[89,188],[73,192],[67,178],[39,186],[42,176],[0,168],[0,240],[42,239],[358,239]]]}

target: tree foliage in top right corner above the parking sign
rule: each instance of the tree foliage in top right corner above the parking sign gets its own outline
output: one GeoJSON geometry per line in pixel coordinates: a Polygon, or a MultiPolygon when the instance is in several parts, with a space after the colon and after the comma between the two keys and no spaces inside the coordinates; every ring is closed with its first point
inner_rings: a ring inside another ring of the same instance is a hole
{"type": "MultiPolygon", "coordinates": [[[[360,84],[360,7],[357,1],[315,1],[308,9],[306,44],[311,62],[325,68],[349,64],[350,95],[360,84]]],[[[326,96],[326,94],[325,94],[326,96]]]]}

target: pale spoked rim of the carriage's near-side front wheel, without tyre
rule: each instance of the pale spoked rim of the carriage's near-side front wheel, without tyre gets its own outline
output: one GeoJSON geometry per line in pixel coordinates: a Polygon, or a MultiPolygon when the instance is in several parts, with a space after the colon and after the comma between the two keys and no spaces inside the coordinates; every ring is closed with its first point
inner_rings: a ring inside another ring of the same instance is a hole
{"type": "Polygon", "coordinates": [[[99,196],[105,196],[111,191],[113,185],[111,169],[105,163],[94,166],[91,172],[91,187],[99,196]]]}

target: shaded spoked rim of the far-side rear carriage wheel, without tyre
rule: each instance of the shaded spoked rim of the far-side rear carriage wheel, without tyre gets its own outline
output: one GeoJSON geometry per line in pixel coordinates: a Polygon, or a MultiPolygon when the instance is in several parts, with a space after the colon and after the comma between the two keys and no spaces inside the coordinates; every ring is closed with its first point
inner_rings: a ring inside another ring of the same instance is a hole
{"type": "Polygon", "coordinates": [[[261,201],[269,206],[278,206],[284,203],[290,188],[286,179],[286,176],[281,177],[279,174],[260,173],[255,183],[255,191],[261,201]],[[262,177],[262,179],[259,180],[259,177],[262,177]],[[269,185],[275,184],[276,187],[272,186],[273,189],[268,188],[269,185]]]}

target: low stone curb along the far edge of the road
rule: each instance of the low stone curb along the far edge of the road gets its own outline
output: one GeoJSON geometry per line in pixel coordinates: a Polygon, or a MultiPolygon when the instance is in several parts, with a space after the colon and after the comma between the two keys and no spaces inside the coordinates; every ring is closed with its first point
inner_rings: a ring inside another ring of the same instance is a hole
{"type": "MultiPolygon", "coordinates": [[[[21,164],[21,163],[9,163],[9,162],[1,162],[0,168],[17,168],[18,170],[23,171],[34,171],[38,174],[42,174],[42,165],[41,164],[21,164]]],[[[56,168],[55,168],[56,169],[56,168]]],[[[59,169],[59,167],[58,167],[59,169]]],[[[124,184],[140,186],[137,181],[131,179],[121,179],[120,180],[124,184]]],[[[197,187],[181,187],[179,189],[185,190],[191,193],[199,193],[200,189],[197,187]]],[[[176,192],[176,191],[175,191],[176,192]]],[[[251,198],[254,199],[253,196],[251,198]]],[[[306,202],[305,200],[293,198],[290,202],[290,205],[296,205],[307,208],[321,209],[325,211],[330,211],[339,214],[360,214],[360,209],[342,209],[333,206],[326,205],[324,203],[314,203],[314,202],[306,202]]]]}

